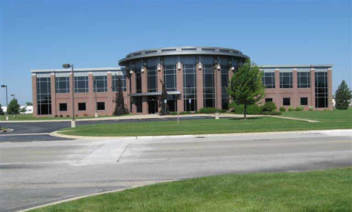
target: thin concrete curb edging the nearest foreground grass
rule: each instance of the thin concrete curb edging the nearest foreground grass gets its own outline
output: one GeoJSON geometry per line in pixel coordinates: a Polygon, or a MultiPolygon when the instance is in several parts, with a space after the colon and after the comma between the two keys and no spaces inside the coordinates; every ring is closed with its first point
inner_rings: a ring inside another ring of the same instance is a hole
{"type": "Polygon", "coordinates": [[[141,185],[133,185],[132,187],[124,188],[124,189],[115,189],[115,190],[111,190],[111,191],[103,191],[103,192],[100,192],[100,193],[91,193],[91,194],[87,194],[87,195],[83,195],[83,196],[76,196],[74,198],[68,198],[68,199],[65,199],[65,200],[60,200],[60,201],[57,201],[57,202],[50,202],[48,204],[43,204],[43,205],[39,205],[39,206],[32,207],[32,208],[29,208],[29,209],[24,209],[24,210],[21,210],[19,212],[25,212],[25,211],[31,211],[31,210],[34,210],[34,209],[40,209],[40,208],[51,206],[51,205],[54,205],[54,204],[60,204],[60,203],[63,203],[63,202],[71,202],[71,201],[74,201],[74,200],[80,200],[82,198],[87,198],[87,197],[90,197],[90,196],[97,196],[97,195],[104,194],[104,193],[113,193],[113,192],[125,191],[125,190],[128,190],[128,189],[135,189],[137,187],[144,187],[144,186],[147,186],[147,185],[155,185],[155,184],[158,184],[158,183],[173,182],[173,181],[177,181],[177,180],[162,180],[162,181],[157,181],[157,182],[149,183],[149,184],[146,183],[146,184],[141,184],[141,185]]]}

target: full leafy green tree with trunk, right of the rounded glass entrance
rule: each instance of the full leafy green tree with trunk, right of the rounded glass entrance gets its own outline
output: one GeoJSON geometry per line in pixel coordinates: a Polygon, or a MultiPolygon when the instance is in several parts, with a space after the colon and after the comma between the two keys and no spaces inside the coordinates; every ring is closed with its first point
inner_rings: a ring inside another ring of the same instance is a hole
{"type": "Polygon", "coordinates": [[[244,119],[246,119],[248,105],[256,104],[265,97],[262,78],[263,72],[259,67],[250,60],[246,60],[230,79],[228,95],[235,104],[244,105],[244,119]]]}

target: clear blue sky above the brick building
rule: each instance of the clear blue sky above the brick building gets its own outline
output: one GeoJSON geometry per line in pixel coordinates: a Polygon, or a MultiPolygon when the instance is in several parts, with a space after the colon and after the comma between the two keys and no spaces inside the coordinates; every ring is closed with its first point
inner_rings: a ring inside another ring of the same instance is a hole
{"type": "MultiPolygon", "coordinates": [[[[32,102],[31,69],[116,67],[132,51],[239,49],[257,64],[333,64],[351,86],[351,1],[1,1],[1,84],[32,102]]],[[[1,90],[5,104],[5,89],[1,90]]]]}

